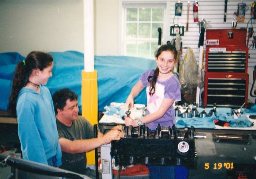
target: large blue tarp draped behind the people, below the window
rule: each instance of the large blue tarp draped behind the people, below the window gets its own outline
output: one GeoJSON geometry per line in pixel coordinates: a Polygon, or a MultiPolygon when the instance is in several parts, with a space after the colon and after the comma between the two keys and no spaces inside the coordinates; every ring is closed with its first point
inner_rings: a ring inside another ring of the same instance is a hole
{"type": "MultiPolygon", "coordinates": [[[[79,96],[81,111],[81,81],[84,70],[84,54],[78,51],[49,52],[53,55],[53,77],[47,83],[51,94],[62,88],[70,88],[79,96]]],[[[0,54],[0,110],[6,111],[11,82],[16,64],[25,57],[17,52],[0,54]]],[[[156,67],[155,60],[129,56],[95,56],[95,70],[98,83],[98,110],[110,102],[125,102],[140,75],[156,67]]],[[[146,104],[145,89],[135,102],[146,104]]]]}

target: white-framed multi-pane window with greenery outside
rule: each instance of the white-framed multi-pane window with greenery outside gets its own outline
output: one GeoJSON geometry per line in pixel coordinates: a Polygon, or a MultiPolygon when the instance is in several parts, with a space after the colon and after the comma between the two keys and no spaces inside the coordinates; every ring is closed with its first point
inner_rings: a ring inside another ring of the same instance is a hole
{"type": "Polygon", "coordinates": [[[166,4],[150,2],[123,3],[123,55],[154,59],[159,27],[163,31],[166,4]]]}

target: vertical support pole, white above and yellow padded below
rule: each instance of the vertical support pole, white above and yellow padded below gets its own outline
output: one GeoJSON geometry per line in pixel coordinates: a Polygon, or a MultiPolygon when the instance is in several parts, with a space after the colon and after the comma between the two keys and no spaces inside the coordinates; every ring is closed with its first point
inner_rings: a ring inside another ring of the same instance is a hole
{"type": "MultiPolygon", "coordinates": [[[[97,71],[94,70],[93,0],[84,0],[84,71],[82,71],[82,115],[97,124],[97,71]]],[[[86,153],[87,165],[95,165],[95,152],[86,153]]],[[[95,166],[97,167],[97,166],[95,166]]]]}

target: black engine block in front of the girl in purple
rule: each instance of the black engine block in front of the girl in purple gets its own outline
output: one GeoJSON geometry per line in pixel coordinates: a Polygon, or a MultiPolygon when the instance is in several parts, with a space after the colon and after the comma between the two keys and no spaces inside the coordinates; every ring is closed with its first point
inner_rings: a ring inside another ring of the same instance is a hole
{"type": "Polygon", "coordinates": [[[111,156],[116,166],[128,166],[136,163],[163,166],[185,166],[194,168],[196,150],[193,127],[178,130],[160,127],[149,132],[146,125],[137,128],[124,126],[124,138],[111,142],[111,156]]]}

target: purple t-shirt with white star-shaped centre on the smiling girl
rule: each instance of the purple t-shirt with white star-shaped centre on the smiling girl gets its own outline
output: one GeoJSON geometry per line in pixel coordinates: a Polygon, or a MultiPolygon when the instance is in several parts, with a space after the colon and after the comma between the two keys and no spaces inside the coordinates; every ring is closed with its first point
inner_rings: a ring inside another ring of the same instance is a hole
{"type": "MultiPolygon", "coordinates": [[[[150,96],[149,95],[149,87],[150,84],[148,83],[148,76],[153,76],[154,69],[150,69],[143,73],[140,77],[140,81],[142,85],[146,86],[146,94],[147,94],[147,111],[146,115],[152,114],[155,111],[158,111],[161,103],[163,102],[163,98],[168,99],[175,99],[175,101],[181,101],[181,84],[177,77],[172,75],[172,77],[168,78],[165,81],[159,81],[157,79],[155,84],[155,93],[150,96]]],[[[173,104],[174,105],[174,104],[173,104]]],[[[174,124],[174,108],[173,105],[168,109],[168,111],[161,117],[160,119],[157,119],[151,123],[146,124],[148,128],[155,130],[160,124],[162,127],[168,127],[170,126],[172,128],[172,125],[174,124]]]]}

